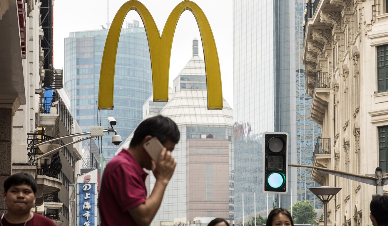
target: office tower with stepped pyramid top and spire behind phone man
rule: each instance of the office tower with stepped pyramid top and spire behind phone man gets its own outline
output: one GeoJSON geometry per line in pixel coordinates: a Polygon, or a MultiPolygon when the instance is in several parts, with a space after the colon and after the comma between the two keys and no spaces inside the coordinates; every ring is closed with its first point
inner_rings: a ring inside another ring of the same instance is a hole
{"type": "MultiPolygon", "coordinates": [[[[144,118],[160,113],[175,121],[180,131],[172,152],[177,167],[151,225],[189,223],[195,217],[234,217],[233,110],[225,100],[223,110],[207,109],[205,75],[194,39],[193,56],[174,79],[169,101],[163,108],[152,99],[144,104],[144,118]]],[[[130,138],[122,147],[129,143],[130,138]]],[[[154,176],[149,183],[152,191],[154,176]]]]}

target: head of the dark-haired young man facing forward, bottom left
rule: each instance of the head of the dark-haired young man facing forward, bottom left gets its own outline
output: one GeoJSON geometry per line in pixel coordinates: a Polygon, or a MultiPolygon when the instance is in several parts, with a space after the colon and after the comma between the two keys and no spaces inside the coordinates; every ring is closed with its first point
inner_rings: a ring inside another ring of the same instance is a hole
{"type": "Polygon", "coordinates": [[[36,199],[35,179],[28,173],[16,173],[4,181],[4,201],[8,211],[14,213],[29,212],[36,199]]]}

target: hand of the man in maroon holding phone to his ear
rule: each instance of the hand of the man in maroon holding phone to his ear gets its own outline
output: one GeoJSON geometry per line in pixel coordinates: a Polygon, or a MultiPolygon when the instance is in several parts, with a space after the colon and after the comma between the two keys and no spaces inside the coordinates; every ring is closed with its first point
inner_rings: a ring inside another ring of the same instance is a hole
{"type": "Polygon", "coordinates": [[[171,152],[166,148],[163,148],[158,162],[156,162],[156,165],[153,164],[152,173],[157,181],[159,180],[163,183],[168,183],[174,173],[175,166],[177,166],[177,162],[175,162],[174,157],[171,156],[171,152]]]}

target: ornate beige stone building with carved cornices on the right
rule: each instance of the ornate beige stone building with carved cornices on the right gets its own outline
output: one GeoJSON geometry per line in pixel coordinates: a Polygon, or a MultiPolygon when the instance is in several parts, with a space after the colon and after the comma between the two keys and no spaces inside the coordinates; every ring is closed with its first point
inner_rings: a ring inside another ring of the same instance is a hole
{"type": "MultiPolygon", "coordinates": [[[[388,173],[387,3],[307,3],[306,90],[313,98],[310,116],[322,126],[314,166],[360,175],[374,174],[379,166],[388,173]]],[[[316,170],[312,178],[320,185],[342,188],[328,204],[328,225],[371,224],[369,203],[376,193],[374,186],[316,170]]],[[[387,190],[384,186],[384,192],[387,190]]]]}

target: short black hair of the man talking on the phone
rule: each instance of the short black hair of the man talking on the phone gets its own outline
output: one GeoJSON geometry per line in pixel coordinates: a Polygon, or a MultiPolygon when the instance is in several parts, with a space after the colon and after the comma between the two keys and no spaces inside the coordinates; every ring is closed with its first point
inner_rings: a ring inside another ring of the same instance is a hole
{"type": "Polygon", "coordinates": [[[177,124],[170,118],[158,115],[140,122],[133,133],[129,147],[139,145],[146,136],[156,136],[160,143],[167,141],[178,143],[180,133],[177,124]]]}

